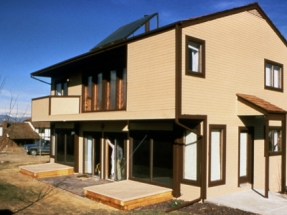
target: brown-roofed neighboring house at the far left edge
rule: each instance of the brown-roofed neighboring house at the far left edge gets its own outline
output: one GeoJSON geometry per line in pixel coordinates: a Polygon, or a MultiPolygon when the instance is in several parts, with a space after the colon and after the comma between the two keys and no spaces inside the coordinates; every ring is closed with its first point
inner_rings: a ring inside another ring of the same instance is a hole
{"type": "Polygon", "coordinates": [[[0,151],[7,146],[22,146],[40,139],[29,122],[7,122],[3,120],[1,128],[0,151]]]}

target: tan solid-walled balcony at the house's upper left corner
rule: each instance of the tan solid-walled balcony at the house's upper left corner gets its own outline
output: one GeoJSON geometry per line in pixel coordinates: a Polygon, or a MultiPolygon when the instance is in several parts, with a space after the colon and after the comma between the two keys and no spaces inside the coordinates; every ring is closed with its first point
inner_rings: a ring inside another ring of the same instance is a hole
{"type": "Polygon", "coordinates": [[[33,120],[48,120],[53,115],[80,113],[80,96],[46,96],[32,99],[33,120]]]}

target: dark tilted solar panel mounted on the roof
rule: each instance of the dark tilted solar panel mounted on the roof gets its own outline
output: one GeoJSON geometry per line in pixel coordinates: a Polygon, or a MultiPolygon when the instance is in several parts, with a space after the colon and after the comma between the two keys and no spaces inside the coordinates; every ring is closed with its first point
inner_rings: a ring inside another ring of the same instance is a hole
{"type": "Polygon", "coordinates": [[[156,15],[157,13],[154,13],[152,15],[147,15],[147,16],[144,16],[143,18],[140,18],[134,22],[131,22],[129,24],[126,24],[120,27],[115,32],[113,32],[111,35],[109,35],[107,38],[105,38],[103,41],[101,41],[99,44],[97,44],[95,47],[93,47],[90,51],[95,51],[96,49],[101,48],[103,46],[110,45],[115,42],[127,39],[136,30],[138,30],[141,26],[143,26],[146,22],[148,22],[150,19],[152,19],[156,15]]]}

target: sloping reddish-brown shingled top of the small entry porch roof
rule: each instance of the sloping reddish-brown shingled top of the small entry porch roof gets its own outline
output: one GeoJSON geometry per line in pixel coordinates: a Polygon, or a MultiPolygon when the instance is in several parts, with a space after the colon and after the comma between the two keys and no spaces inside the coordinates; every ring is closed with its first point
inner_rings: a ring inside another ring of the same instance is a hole
{"type": "Polygon", "coordinates": [[[254,105],[260,109],[262,109],[266,113],[281,113],[286,114],[286,110],[277,107],[274,104],[271,104],[270,102],[267,102],[261,98],[258,98],[257,96],[253,95],[247,95],[247,94],[236,94],[239,98],[243,99],[244,101],[247,101],[249,104],[254,105]]]}

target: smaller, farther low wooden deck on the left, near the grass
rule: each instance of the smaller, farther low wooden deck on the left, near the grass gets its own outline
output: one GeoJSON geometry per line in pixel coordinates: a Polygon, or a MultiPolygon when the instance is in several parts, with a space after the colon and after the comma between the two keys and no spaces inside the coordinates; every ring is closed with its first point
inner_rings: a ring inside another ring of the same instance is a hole
{"type": "Polygon", "coordinates": [[[48,178],[55,176],[70,175],[74,173],[74,168],[58,163],[34,164],[20,166],[19,172],[32,178],[48,178]]]}

